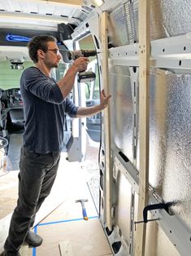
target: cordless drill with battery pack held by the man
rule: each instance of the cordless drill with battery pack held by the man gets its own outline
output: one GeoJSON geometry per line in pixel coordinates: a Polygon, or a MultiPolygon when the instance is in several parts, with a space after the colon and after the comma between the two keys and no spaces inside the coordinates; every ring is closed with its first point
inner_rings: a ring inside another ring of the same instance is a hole
{"type": "MultiPolygon", "coordinates": [[[[67,57],[69,60],[76,60],[80,57],[90,57],[97,55],[97,51],[94,50],[78,50],[68,51],[67,57]]],[[[78,82],[91,82],[95,80],[96,74],[92,71],[82,71],[78,73],[78,82]]]]}

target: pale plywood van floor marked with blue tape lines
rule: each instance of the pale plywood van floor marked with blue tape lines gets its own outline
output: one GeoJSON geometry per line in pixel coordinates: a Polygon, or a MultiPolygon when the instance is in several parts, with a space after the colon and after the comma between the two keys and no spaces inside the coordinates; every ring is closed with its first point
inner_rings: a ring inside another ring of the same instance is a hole
{"type": "MultiPolygon", "coordinates": [[[[5,188],[0,191],[2,220],[15,208],[17,174],[7,174],[8,183],[0,178],[1,188],[5,188]]],[[[3,179],[6,180],[6,176],[3,179]]],[[[85,170],[77,162],[69,163],[64,156],[60,161],[54,188],[39,210],[35,224],[34,232],[43,237],[43,243],[36,249],[22,246],[22,256],[59,256],[59,247],[63,255],[67,256],[112,255],[85,180],[85,170]],[[82,218],[80,203],[76,202],[79,199],[88,200],[85,202],[89,217],[87,221],[82,218]]]]}

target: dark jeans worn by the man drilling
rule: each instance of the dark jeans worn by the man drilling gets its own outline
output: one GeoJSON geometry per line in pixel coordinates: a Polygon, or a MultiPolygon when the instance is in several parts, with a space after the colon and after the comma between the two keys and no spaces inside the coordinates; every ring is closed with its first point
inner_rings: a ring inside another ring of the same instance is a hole
{"type": "Polygon", "coordinates": [[[21,148],[19,198],[4,245],[7,251],[18,251],[28,229],[33,227],[37,210],[50,194],[57,174],[59,158],[59,152],[38,154],[21,148]]]}

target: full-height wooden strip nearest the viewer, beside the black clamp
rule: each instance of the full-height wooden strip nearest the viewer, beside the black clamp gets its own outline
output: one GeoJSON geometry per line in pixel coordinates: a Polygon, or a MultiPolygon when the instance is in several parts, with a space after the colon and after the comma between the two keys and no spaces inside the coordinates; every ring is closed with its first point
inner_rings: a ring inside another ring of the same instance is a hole
{"type": "MultiPolygon", "coordinates": [[[[140,170],[137,220],[148,204],[150,133],[150,0],[139,0],[140,170]]],[[[137,224],[135,255],[145,255],[146,223],[137,224]]]]}

